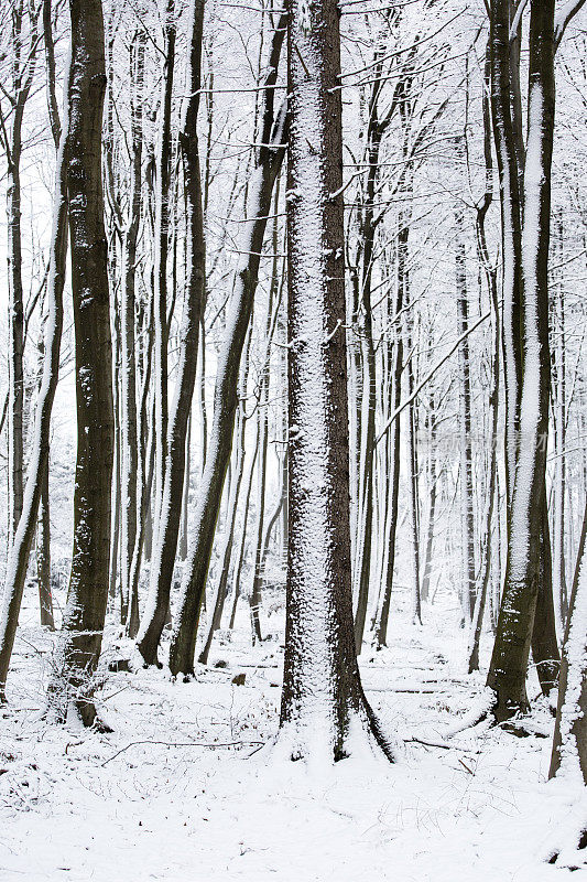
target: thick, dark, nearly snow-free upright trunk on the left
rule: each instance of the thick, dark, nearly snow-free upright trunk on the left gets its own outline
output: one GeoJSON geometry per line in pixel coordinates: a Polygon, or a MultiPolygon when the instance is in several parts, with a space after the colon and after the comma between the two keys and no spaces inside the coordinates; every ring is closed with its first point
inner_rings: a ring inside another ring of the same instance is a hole
{"type": "Polygon", "coordinates": [[[113,452],[112,346],[101,181],[107,80],[100,0],[70,0],[69,11],[67,192],[77,461],[72,574],[50,698],[57,719],[65,719],[68,708],[75,707],[89,725],[96,718],[90,677],[100,655],[108,601],[113,452]]]}

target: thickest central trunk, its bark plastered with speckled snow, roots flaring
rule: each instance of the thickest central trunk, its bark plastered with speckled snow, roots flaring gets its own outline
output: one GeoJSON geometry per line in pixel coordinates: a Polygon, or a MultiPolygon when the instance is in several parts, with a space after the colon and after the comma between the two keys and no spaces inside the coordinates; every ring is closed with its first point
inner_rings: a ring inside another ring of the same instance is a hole
{"type": "Polygon", "coordinates": [[[290,535],[278,749],[329,763],[369,732],[385,742],[352,623],[338,8],[292,0],[289,12],[290,535]]]}

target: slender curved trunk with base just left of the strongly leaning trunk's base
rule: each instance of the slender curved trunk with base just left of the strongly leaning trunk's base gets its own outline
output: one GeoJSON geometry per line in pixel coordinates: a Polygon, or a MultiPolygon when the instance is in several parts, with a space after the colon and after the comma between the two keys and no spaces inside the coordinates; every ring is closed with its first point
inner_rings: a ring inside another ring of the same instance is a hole
{"type": "Polygon", "coordinates": [[[195,0],[189,28],[189,64],[187,92],[189,100],[181,137],[184,162],[184,183],[187,212],[187,267],[188,278],[184,316],[182,322],[182,349],[177,377],[177,391],[173,402],[166,463],[163,478],[163,498],[156,528],[156,542],[151,564],[149,598],[137,645],[148,665],[156,662],[161,634],[167,617],[171,584],[180,521],[185,475],[185,447],[187,421],[196,379],[198,337],[206,284],[206,252],[204,244],[204,216],[197,139],[197,116],[202,83],[202,33],[204,1],[195,0]]]}

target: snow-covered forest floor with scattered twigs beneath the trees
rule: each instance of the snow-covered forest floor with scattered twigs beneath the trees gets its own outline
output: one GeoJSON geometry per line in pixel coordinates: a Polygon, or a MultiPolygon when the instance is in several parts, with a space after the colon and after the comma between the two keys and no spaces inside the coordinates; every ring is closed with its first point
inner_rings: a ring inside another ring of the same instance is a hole
{"type": "MultiPolygon", "coordinates": [[[[444,741],[483,700],[483,677],[464,674],[458,611],[445,606],[424,627],[395,611],[390,647],[361,656],[367,695],[400,741],[444,741]]],[[[109,734],[43,721],[53,637],[23,617],[0,713],[2,882],[542,882],[586,853],[570,848],[587,820],[583,788],[546,783],[553,719],[540,702],[535,735],[480,723],[449,750],[406,741],[393,765],[357,756],[316,775],[258,750],[278,727],[282,652],[276,639],[251,649],[244,614],[193,682],[105,675],[109,734]],[[231,742],[243,744],[220,746],[231,742]]]]}

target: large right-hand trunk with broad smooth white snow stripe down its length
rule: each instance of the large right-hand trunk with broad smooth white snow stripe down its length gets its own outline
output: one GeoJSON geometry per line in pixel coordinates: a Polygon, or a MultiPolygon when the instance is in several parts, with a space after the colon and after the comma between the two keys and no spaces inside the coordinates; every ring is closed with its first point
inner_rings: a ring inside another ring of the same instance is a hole
{"type": "MultiPolygon", "coordinates": [[[[528,708],[525,679],[541,581],[548,432],[548,241],[554,128],[554,2],[532,2],[528,144],[522,236],[524,340],[517,458],[506,582],[488,686],[494,716],[528,708]]],[[[511,477],[511,476],[510,476],[511,477]]]]}

